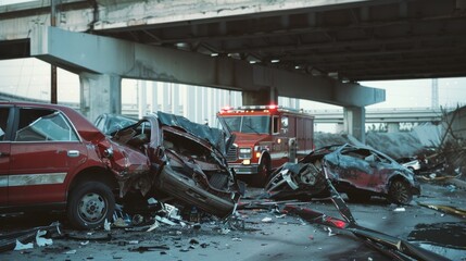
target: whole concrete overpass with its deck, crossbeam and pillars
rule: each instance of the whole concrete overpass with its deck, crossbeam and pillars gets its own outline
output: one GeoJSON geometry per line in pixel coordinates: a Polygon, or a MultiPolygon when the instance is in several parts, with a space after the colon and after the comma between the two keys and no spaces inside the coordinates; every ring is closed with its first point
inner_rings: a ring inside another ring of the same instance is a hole
{"type": "Polygon", "coordinates": [[[0,7],[0,59],[79,74],[81,111],[121,112],[121,78],[236,89],[344,108],[364,139],[365,79],[466,75],[464,0],[33,1],[0,7]],[[51,8],[53,7],[53,8],[51,8]],[[50,27],[55,25],[56,27],[50,27]]]}

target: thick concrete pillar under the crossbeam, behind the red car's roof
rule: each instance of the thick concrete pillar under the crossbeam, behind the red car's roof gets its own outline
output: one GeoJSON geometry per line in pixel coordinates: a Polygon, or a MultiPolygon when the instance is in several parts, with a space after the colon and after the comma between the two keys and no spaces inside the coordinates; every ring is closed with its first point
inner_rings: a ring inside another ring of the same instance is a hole
{"type": "Polygon", "coordinates": [[[91,122],[102,113],[122,113],[122,77],[79,74],[80,111],[91,122]]]}

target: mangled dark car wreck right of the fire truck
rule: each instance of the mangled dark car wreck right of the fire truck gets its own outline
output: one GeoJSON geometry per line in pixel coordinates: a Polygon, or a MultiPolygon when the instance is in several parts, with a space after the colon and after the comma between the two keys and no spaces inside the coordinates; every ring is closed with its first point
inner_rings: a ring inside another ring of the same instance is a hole
{"type": "Polygon", "coordinates": [[[325,196],[324,167],[337,190],[351,200],[381,196],[406,204],[420,194],[413,172],[379,151],[348,144],[323,147],[297,164],[284,164],[272,174],[266,190],[276,199],[325,196]]]}

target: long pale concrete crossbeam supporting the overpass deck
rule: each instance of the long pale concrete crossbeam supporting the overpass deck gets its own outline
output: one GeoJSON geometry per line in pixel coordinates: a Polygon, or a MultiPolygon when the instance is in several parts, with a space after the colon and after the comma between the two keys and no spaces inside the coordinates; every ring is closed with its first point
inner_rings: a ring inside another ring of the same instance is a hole
{"type": "Polygon", "coordinates": [[[382,89],[343,84],[327,76],[292,73],[232,58],[212,58],[48,26],[33,29],[30,54],[77,73],[88,71],[236,90],[268,87],[278,90],[280,96],[342,107],[365,107],[386,98],[382,89]]]}

